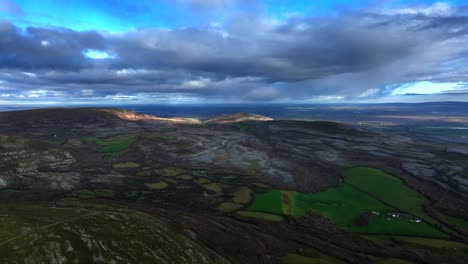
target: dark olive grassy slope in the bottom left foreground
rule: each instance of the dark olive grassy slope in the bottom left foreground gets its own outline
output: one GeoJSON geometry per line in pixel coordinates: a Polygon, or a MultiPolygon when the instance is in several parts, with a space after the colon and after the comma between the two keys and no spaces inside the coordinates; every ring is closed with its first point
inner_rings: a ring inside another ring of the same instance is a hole
{"type": "Polygon", "coordinates": [[[145,213],[15,204],[0,214],[0,263],[224,263],[145,213]]]}

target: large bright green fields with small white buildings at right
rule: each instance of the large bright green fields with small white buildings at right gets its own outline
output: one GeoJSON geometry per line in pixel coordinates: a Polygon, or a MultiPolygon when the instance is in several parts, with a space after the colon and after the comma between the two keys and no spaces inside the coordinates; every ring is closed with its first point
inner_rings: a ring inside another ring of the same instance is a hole
{"type": "Polygon", "coordinates": [[[248,210],[295,217],[314,211],[354,232],[448,237],[430,224],[418,220],[418,217],[430,219],[422,209],[427,200],[399,179],[368,168],[347,170],[345,174],[350,177],[350,183],[346,178],[337,187],[318,193],[270,190],[257,194],[248,210]],[[367,174],[361,179],[363,173],[367,174]],[[365,190],[372,190],[372,193],[365,190]],[[409,202],[405,202],[406,199],[402,199],[399,193],[403,197],[407,195],[409,202]],[[397,213],[396,210],[410,214],[397,213]],[[363,216],[367,216],[364,223],[358,223],[363,216]]]}

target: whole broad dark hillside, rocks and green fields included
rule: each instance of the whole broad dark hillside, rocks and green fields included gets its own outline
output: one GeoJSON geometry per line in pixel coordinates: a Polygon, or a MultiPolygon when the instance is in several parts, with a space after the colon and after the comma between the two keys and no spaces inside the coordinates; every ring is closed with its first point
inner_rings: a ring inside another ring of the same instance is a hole
{"type": "Polygon", "coordinates": [[[467,166],[463,151],[336,122],[2,112],[0,259],[463,263],[467,166]]]}

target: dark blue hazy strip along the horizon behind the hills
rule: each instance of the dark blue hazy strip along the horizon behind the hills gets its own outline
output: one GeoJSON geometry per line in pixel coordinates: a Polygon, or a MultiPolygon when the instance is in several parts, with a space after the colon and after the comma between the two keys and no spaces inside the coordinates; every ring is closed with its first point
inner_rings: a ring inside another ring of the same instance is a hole
{"type": "MultiPolygon", "coordinates": [[[[43,107],[43,106],[42,106],[43,107]]],[[[56,107],[56,106],[54,106],[56,107]]],[[[80,107],[80,106],[73,106],[80,107]]],[[[253,113],[274,119],[335,120],[359,122],[379,116],[468,116],[468,102],[392,103],[392,104],[223,104],[223,105],[120,105],[119,107],[159,117],[210,118],[222,114],[253,113]]],[[[0,106],[0,111],[39,108],[0,106]]],[[[377,118],[378,119],[378,118],[377,118]]]]}

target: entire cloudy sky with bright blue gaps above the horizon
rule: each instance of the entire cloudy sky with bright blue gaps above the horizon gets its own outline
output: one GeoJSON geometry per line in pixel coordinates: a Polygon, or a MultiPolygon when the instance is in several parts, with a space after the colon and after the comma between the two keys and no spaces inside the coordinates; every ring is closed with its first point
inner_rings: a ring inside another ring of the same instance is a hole
{"type": "Polygon", "coordinates": [[[468,2],[0,0],[0,104],[468,101],[468,2]]]}

